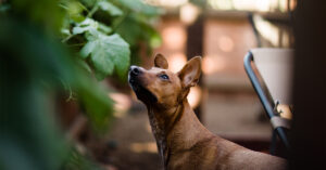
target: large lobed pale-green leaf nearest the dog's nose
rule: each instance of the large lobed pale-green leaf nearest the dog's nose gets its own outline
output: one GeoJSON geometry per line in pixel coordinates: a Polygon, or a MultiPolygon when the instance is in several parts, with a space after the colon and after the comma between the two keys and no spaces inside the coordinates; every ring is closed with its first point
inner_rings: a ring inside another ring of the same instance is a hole
{"type": "Polygon", "coordinates": [[[129,44],[116,34],[106,36],[93,31],[92,40],[86,43],[80,53],[84,57],[90,54],[98,79],[112,75],[113,70],[123,76],[129,66],[129,44]]]}

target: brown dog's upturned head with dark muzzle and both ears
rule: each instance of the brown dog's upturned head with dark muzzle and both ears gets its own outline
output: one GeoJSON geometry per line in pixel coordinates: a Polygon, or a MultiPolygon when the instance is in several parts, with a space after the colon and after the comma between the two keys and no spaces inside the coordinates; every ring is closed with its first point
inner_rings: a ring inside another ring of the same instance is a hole
{"type": "Polygon", "coordinates": [[[147,105],[166,108],[180,104],[199,80],[201,57],[191,58],[176,74],[167,68],[167,61],[162,54],[156,54],[154,67],[149,70],[130,66],[128,81],[138,100],[147,105]]]}

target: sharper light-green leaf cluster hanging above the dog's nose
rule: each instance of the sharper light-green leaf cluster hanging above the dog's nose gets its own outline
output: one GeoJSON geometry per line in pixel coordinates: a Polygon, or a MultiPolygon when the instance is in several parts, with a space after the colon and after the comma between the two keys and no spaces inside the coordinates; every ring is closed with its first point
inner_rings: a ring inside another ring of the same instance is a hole
{"type": "Polygon", "coordinates": [[[151,26],[159,11],[140,0],[61,0],[60,6],[66,11],[62,41],[80,51],[98,80],[113,73],[125,79],[140,43],[160,43],[151,26]]]}

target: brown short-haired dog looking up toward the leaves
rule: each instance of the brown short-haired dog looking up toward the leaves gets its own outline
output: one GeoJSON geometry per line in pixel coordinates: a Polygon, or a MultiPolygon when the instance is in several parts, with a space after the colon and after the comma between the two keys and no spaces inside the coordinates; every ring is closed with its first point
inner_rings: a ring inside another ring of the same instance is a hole
{"type": "Polygon", "coordinates": [[[216,136],[200,123],[187,94],[200,77],[201,57],[190,60],[177,74],[167,70],[161,54],[154,64],[149,70],[131,66],[128,79],[148,108],[165,170],[286,169],[286,160],[216,136]]]}

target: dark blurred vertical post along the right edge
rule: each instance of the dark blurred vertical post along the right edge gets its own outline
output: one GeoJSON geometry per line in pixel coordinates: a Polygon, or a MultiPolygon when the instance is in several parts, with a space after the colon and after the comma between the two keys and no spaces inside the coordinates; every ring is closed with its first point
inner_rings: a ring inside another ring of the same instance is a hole
{"type": "Polygon", "coordinates": [[[298,1],[294,11],[293,123],[290,170],[326,169],[326,1],[298,1]]]}

